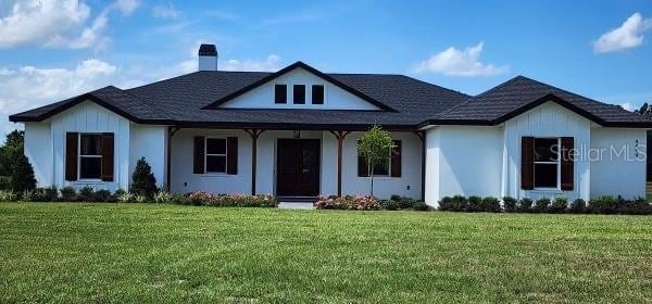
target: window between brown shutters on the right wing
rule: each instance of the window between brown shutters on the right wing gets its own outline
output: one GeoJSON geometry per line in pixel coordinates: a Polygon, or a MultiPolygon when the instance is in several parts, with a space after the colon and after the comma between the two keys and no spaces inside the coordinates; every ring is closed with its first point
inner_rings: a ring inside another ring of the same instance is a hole
{"type": "Polygon", "coordinates": [[[535,188],[559,188],[559,138],[535,138],[535,188]]]}

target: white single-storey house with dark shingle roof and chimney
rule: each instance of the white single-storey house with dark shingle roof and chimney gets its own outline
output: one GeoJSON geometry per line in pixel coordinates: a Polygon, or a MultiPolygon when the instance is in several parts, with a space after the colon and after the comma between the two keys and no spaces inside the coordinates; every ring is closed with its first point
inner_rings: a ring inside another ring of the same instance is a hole
{"type": "Polygon", "coordinates": [[[356,140],[390,130],[375,194],[588,200],[645,194],[652,121],[518,76],[467,96],[402,75],[200,71],[133,89],[105,87],[10,116],[42,187],[128,189],[146,157],[174,192],[368,193],[356,140]]]}

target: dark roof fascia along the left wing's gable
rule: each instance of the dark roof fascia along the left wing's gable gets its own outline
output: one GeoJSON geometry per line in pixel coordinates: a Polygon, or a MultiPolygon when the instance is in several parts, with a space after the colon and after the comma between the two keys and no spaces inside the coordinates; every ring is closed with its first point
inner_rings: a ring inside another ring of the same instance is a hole
{"type": "Polygon", "coordinates": [[[13,123],[42,122],[42,121],[45,121],[47,118],[50,118],[50,117],[52,117],[52,116],[54,116],[54,115],[57,115],[57,114],[59,114],[59,113],[61,113],[63,111],[66,111],[66,110],[71,109],[71,107],[73,107],[73,106],[75,106],[75,105],[77,105],[77,104],[79,104],[79,103],[82,103],[84,101],[95,102],[95,103],[97,103],[97,104],[99,104],[99,105],[101,105],[101,106],[103,106],[103,107],[105,107],[105,109],[114,112],[115,114],[121,115],[121,116],[123,116],[123,117],[125,117],[125,118],[127,118],[127,119],[129,119],[129,121],[131,121],[134,123],[137,123],[137,124],[168,124],[168,123],[173,122],[173,121],[170,121],[170,119],[141,119],[141,118],[138,118],[138,117],[136,117],[136,116],[134,116],[134,115],[131,115],[131,114],[123,111],[122,109],[120,109],[120,107],[117,107],[117,106],[115,106],[115,105],[113,105],[113,104],[111,104],[111,103],[102,100],[101,98],[92,94],[91,92],[84,93],[84,94],[80,94],[78,97],[75,97],[70,102],[66,102],[65,104],[57,106],[57,107],[54,107],[54,109],[52,109],[52,110],[50,110],[50,111],[48,111],[48,112],[46,112],[46,113],[43,113],[41,115],[38,115],[37,117],[21,117],[21,115],[23,115],[24,113],[29,112],[29,111],[27,111],[27,112],[22,112],[22,113],[9,116],[9,121],[13,122],[13,123]]]}

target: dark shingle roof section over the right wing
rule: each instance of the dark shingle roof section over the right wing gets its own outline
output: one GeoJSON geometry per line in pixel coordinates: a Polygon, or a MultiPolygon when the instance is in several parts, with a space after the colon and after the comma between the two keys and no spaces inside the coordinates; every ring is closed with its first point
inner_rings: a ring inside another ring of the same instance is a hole
{"type": "Polygon", "coordinates": [[[436,115],[430,123],[503,123],[543,102],[553,101],[603,126],[648,125],[652,119],[524,76],[512,78],[436,115]]]}

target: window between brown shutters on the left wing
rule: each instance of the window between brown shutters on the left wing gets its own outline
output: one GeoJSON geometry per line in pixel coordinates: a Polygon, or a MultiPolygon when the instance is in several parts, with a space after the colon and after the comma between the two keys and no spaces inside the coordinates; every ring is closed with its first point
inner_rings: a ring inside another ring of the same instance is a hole
{"type": "Polygon", "coordinates": [[[79,178],[102,178],[102,135],[79,135],[79,178]]]}

